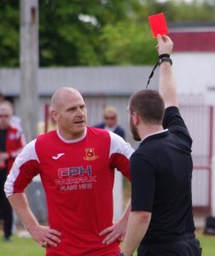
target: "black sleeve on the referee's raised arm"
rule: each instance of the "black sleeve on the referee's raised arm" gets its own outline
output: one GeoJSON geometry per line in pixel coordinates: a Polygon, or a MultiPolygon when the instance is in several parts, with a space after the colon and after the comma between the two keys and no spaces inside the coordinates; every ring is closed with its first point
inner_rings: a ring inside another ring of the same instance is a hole
{"type": "Polygon", "coordinates": [[[166,108],[163,126],[164,129],[168,128],[171,133],[182,139],[189,148],[192,147],[192,138],[177,107],[166,108]]]}

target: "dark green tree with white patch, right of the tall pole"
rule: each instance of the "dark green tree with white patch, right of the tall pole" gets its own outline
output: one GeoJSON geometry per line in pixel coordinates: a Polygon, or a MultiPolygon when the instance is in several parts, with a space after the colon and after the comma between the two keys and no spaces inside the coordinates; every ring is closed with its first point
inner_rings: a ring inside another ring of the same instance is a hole
{"type": "Polygon", "coordinates": [[[41,66],[105,63],[100,42],[101,29],[106,24],[125,20],[126,9],[131,3],[119,0],[40,2],[41,66]]]}

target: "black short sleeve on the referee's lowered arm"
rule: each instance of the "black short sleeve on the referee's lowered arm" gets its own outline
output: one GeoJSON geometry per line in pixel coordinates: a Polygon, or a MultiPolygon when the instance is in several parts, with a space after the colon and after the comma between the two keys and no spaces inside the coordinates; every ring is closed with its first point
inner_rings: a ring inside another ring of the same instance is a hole
{"type": "Polygon", "coordinates": [[[131,156],[131,211],[152,212],[155,173],[150,160],[142,154],[131,156]]]}

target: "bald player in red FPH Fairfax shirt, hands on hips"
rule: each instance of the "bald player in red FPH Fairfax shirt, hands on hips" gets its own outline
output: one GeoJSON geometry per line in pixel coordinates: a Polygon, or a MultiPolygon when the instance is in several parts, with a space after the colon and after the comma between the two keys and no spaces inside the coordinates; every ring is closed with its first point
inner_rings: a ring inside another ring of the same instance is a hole
{"type": "Polygon", "coordinates": [[[47,256],[115,256],[130,212],[113,224],[113,179],[117,168],[130,179],[129,143],[110,131],[87,127],[84,99],[62,87],[51,100],[57,130],[26,145],[15,160],[5,192],[20,220],[47,256]],[[40,175],[49,227],[38,224],[24,189],[40,175]]]}

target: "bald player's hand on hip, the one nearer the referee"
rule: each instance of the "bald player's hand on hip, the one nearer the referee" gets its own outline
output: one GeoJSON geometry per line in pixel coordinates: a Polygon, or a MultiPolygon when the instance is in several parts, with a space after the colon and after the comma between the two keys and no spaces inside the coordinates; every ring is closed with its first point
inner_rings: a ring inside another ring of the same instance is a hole
{"type": "Polygon", "coordinates": [[[108,227],[99,234],[100,236],[107,235],[102,243],[110,244],[113,241],[123,241],[125,238],[125,232],[127,228],[127,222],[125,220],[119,220],[117,223],[108,227]]]}

